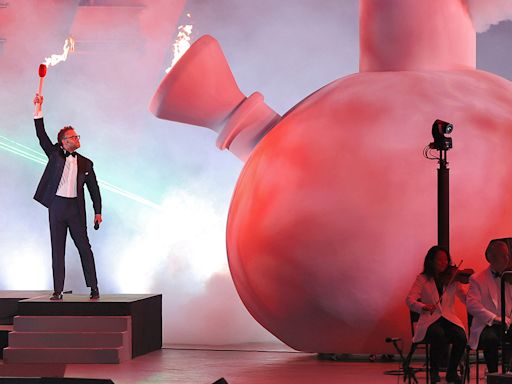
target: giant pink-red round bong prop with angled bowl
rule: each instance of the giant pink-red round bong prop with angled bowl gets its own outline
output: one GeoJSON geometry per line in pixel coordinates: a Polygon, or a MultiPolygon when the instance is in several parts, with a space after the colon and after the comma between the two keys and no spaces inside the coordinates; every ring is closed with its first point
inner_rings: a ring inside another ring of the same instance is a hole
{"type": "Polygon", "coordinates": [[[437,242],[436,172],[422,156],[450,122],[451,251],[479,269],[512,232],[512,84],[475,69],[463,0],[361,0],[360,71],[279,116],[243,95],[218,43],[198,39],[151,101],[208,127],[245,161],[227,224],[252,316],[302,351],[377,353],[410,336],[404,298],[437,242]]]}

